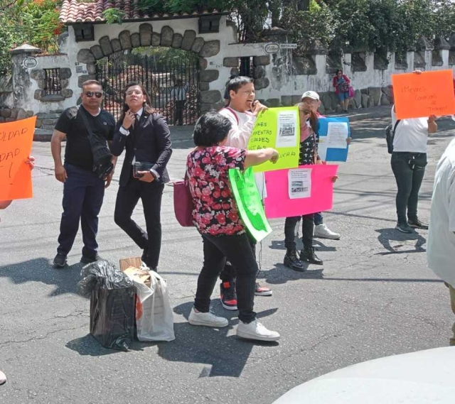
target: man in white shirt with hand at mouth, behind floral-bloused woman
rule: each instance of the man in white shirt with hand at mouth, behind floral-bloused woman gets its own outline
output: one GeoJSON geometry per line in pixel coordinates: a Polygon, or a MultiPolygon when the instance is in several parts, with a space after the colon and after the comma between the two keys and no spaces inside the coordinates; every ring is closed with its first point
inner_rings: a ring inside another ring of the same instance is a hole
{"type": "MultiPolygon", "coordinates": [[[[226,91],[230,102],[228,107],[220,109],[220,114],[228,118],[232,129],[228,133],[228,141],[225,146],[235,148],[247,148],[248,141],[255,127],[259,112],[267,109],[259,101],[255,100],[255,84],[250,77],[234,77],[228,82],[226,91]]],[[[250,238],[253,251],[255,241],[250,238]]],[[[237,310],[237,295],[235,293],[235,268],[229,262],[220,273],[220,299],[221,304],[227,310],[237,310]]],[[[272,290],[256,283],[255,295],[269,296],[272,290]]]]}

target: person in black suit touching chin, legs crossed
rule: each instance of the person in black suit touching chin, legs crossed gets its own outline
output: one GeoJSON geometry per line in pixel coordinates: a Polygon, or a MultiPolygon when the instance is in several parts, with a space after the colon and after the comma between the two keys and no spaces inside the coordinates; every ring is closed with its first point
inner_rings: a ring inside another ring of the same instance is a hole
{"type": "Polygon", "coordinates": [[[171,137],[163,116],[150,106],[144,87],[135,82],[124,91],[124,113],[117,122],[111,150],[126,155],[120,174],[114,220],[142,249],[142,261],[156,271],[161,250],[161,197],[169,182],[166,164],[171,158],[171,137]],[[139,170],[134,165],[141,163],[139,170]],[[131,218],[142,200],[146,231],[131,218]]]}

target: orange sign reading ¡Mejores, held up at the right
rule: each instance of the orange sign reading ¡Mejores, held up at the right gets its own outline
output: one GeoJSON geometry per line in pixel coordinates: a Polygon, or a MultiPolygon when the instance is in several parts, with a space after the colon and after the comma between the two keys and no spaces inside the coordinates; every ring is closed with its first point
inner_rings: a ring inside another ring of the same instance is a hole
{"type": "Polygon", "coordinates": [[[392,75],[397,119],[455,114],[451,70],[392,75]]]}

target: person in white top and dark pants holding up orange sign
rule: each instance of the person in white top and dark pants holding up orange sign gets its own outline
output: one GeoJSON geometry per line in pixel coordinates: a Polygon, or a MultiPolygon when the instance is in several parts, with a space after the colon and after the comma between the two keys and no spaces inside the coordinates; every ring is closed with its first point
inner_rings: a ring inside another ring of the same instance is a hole
{"type": "Polygon", "coordinates": [[[402,119],[397,122],[392,107],[392,127],[395,128],[390,164],[397,181],[397,226],[402,233],[413,229],[428,229],[417,216],[420,185],[427,165],[428,134],[437,131],[436,116],[402,119]],[[396,126],[395,126],[396,124],[396,126]]]}

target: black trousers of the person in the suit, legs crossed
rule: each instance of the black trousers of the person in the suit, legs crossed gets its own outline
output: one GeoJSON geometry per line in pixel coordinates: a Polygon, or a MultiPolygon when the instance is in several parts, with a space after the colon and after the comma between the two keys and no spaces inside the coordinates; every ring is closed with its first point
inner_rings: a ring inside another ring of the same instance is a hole
{"type": "Polygon", "coordinates": [[[115,223],[133,239],[140,249],[148,250],[144,263],[149,268],[158,266],[161,251],[161,197],[163,190],[163,184],[132,178],[127,185],[119,187],[117,201],[115,202],[115,223]],[[141,198],[144,207],[146,232],[131,218],[139,198],[141,198]]]}

